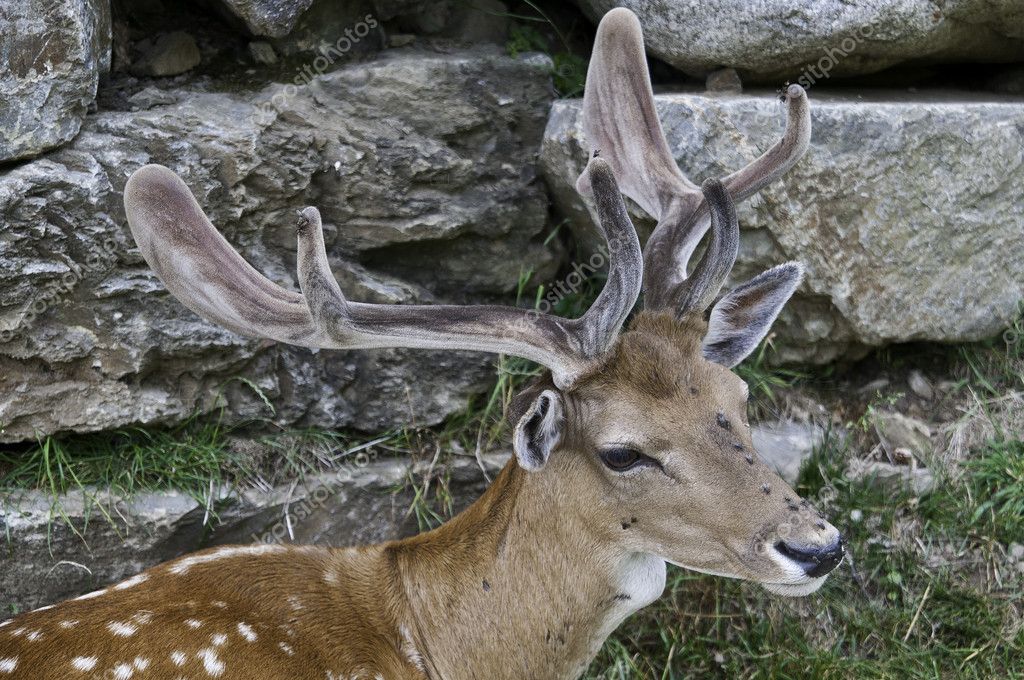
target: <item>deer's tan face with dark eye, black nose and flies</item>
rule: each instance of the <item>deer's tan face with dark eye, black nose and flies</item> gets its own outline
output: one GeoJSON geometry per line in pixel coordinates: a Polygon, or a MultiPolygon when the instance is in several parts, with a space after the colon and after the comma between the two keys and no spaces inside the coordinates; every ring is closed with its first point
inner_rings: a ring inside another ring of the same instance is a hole
{"type": "Polygon", "coordinates": [[[568,500],[627,551],[813,592],[842,560],[842,539],[758,459],[746,385],[703,356],[706,333],[701,320],[641,314],[593,378],[547,390],[545,413],[561,419],[546,436],[560,443],[539,474],[559,477],[553,505],[568,500]]]}

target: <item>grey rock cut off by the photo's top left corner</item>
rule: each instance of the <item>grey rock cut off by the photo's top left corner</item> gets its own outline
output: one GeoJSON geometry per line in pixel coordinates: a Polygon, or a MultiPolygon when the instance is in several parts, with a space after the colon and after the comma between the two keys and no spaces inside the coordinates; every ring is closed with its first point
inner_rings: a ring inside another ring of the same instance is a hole
{"type": "Polygon", "coordinates": [[[109,0],[5,0],[0,162],[31,158],[73,139],[110,67],[109,0]]]}

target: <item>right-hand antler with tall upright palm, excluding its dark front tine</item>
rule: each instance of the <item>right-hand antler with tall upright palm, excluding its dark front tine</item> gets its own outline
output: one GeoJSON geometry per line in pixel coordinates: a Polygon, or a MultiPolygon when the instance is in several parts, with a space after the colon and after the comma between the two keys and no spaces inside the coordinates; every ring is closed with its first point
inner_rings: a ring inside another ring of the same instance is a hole
{"type": "MultiPolygon", "coordinates": [[[[807,151],[811,136],[807,94],[800,85],[791,85],[785,99],[787,120],[782,138],[750,165],[722,179],[726,194],[734,201],[753,196],[780,177],[807,151]]],[[[680,172],[669,151],[654,108],[640,22],[628,9],[612,9],[597,29],[584,91],[583,121],[591,150],[608,161],[623,193],[657,219],[657,227],[644,247],[644,306],[675,306],[677,313],[685,311],[693,299],[680,301],[677,296],[683,291],[687,262],[708,229],[711,200],[707,190],[701,195],[680,172]]],[[[577,182],[581,194],[587,193],[586,177],[587,170],[577,182]]]]}

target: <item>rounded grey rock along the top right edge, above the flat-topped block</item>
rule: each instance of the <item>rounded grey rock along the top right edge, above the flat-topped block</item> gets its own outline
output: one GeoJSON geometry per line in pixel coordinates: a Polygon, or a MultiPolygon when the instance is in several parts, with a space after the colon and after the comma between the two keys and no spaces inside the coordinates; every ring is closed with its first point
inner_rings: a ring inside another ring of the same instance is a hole
{"type": "MultiPolygon", "coordinates": [[[[1007,62],[1024,57],[1017,0],[579,0],[597,22],[636,12],[647,50],[694,76],[721,67],[744,80],[808,85],[897,63],[1007,62]],[[801,79],[804,79],[803,81],[801,79]]],[[[806,85],[805,85],[806,87],[806,85]]]]}

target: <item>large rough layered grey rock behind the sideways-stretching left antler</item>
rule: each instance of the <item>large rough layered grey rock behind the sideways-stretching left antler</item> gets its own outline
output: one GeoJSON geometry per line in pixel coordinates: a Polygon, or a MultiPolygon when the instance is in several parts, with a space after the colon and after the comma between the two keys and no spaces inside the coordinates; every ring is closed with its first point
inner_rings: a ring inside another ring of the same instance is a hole
{"type": "Polygon", "coordinates": [[[90,117],[67,148],[0,174],[0,441],[221,403],[232,419],[367,430],[462,408],[492,357],[316,352],[200,320],[142,261],[121,192],[139,166],[168,165],[296,290],[296,215],[316,205],[352,299],[508,302],[521,270],[547,280],[559,261],[536,170],[549,70],[497,49],[408,51],[301,86],[169,90],[173,103],[90,117]]]}

